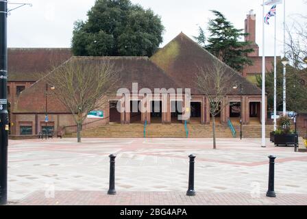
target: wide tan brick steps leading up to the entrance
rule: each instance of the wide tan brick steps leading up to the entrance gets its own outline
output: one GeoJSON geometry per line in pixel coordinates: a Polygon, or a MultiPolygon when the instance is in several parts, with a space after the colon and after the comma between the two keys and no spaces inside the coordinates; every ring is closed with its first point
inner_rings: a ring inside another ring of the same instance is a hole
{"type": "MultiPolygon", "coordinates": [[[[240,138],[240,125],[234,125],[236,138],[240,138]]],[[[273,125],[266,126],[266,137],[273,131],[273,125]]],[[[212,125],[197,123],[188,124],[188,138],[212,138],[212,125]]],[[[86,129],[81,133],[82,138],[144,138],[144,125],[140,123],[131,125],[110,124],[92,129],[86,129]]],[[[216,125],[217,138],[233,138],[228,125],[216,125]]],[[[67,134],[65,138],[77,138],[77,133],[67,134]]],[[[184,125],[173,123],[162,125],[160,123],[147,125],[146,138],[186,138],[184,125]]],[[[261,125],[243,125],[243,138],[261,138],[261,125]]]]}

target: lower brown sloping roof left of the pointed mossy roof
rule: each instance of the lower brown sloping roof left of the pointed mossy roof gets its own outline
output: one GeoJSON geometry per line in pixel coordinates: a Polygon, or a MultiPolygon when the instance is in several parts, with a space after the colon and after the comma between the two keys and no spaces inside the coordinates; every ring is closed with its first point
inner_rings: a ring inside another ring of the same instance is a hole
{"type": "MultiPolygon", "coordinates": [[[[87,62],[99,64],[110,61],[118,71],[119,81],[115,89],[127,88],[132,92],[132,83],[138,83],[138,90],[149,88],[177,88],[177,84],[164,71],[153,64],[148,57],[71,57],[67,62],[87,62]]],[[[52,74],[52,72],[50,73],[52,74]]],[[[14,113],[45,112],[45,82],[37,81],[21,92],[14,107],[14,113]]],[[[49,113],[69,113],[56,96],[48,96],[49,113]]]]}

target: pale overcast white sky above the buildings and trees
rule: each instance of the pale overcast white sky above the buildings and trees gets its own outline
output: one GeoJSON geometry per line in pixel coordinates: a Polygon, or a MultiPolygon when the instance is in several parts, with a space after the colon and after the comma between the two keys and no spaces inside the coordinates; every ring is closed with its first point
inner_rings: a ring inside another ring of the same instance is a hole
{"type": "MultiPolygon", "coordinates": [[[[8,17],[9,47],[71,47],[73,23],[86,20],[86,12],[95,0],[11,0],[11,2],[32,3],[33,6],[13,11],[8,17]]],[[[256,41],[262,48],[262,0],[132,0],[144,8],[151,8],[162,17],[165,27],[164,42],[175,38],[180,31],[192,37],[198,33],[198,25],[206,27],[212,18],[209,10],[219,10],[235,27],[244,28],[249,10],[256,13],[256,41]]],[[[265,13],[271,6],[266,6],[265,13]]],[[[9,5],[12,8],[12,5],[9,5]]],[[[307,14],[304,0],[286,0],[286,23],[291,24],[295,14],[307,14]]],[[[278,54],[282,53],[283,6],[277,7],[278,54]]],[[[273,55],[274,18],[266,29],[266,55],[273,55]]],[[[261,50],[260,50],[261,53],[261,50]]]]}

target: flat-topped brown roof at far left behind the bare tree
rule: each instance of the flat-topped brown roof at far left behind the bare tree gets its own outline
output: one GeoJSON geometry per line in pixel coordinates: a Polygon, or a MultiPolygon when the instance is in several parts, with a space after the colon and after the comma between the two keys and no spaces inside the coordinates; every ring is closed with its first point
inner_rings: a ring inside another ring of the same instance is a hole
{"type": "Polygon", "coordinates": [[[37,81],[71,56],[69,48],[9,48],[8,81],[37,81]]]}

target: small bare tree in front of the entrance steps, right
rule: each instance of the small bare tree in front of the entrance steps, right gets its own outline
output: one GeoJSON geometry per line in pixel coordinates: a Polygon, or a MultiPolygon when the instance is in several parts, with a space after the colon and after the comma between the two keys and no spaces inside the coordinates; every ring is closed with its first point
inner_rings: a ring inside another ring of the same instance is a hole
{"type": "Polygon", "coordinates": [[[225,97],[230,94],[236,81],[233,70],[228,66],[214,60],[212,66],[204,69],[199,68],[197,73],[197,87],[204,95],[206,95],[210,104],[210,115],[212,117],[212,130],[213,130],[213,149],[217,149],[217,140],[215,133],[215,116],[217,116],[228,104],[225,97]],[[230,86],[229,81],[234,83],[230,86]]]}

